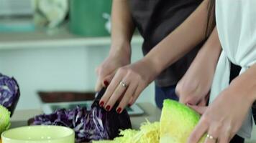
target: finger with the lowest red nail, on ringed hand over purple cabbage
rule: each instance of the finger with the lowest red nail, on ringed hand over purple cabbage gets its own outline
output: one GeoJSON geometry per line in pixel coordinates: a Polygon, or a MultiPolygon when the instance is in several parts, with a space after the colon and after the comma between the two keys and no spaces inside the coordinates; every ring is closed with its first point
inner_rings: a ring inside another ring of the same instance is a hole
{"type": "Polygon", "coordinates": [[[129,84],[128,89],[124,93],[124,97],[122,98],[121,102],[119,103],[119,106],[116,108],[117,113],[119,113],[119,114],[122,113],[123,109],[125,107],[127,107],[127,104],[129,104],[136,89],[137,89],[137,84],[129,84]]]}

